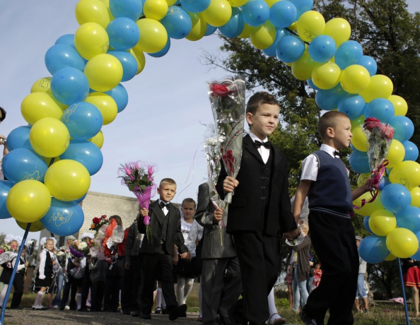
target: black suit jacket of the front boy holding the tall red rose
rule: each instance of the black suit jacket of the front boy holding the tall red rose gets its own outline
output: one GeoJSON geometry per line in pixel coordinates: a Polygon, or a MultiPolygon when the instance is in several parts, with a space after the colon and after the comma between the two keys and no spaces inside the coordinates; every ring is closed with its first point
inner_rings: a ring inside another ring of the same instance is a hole
{"type": "MultiPolygon", "coordinates": [[[[264,161],[261,158],[252,138],[243,138],[243,155],[238,172],[238,187],[228,206],[227,232],[262,231],[267,235],[278,235],[296,229],[296,222],[291,212],[288,196],[288,172],[286,156],[271,146],[271,175],[269,179],[268,212],[262,215],[261,170],[264,161]]],[[[224,198],[223,179],[227,176],[222,165],[216,189],[221,199],[224,198]]]]}

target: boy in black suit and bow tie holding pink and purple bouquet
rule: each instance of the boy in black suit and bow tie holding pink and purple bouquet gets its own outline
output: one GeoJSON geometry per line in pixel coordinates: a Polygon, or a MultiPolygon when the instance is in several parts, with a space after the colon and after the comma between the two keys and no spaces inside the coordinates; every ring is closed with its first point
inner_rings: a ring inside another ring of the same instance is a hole
{"type": "Polygon", "coordinates": [[[141,218],[137,223],[139,232],[146,234],[146,225],[143,220],[150,216],[151,239],[144,236],[140,247],[143,255],[143,285],[140,297],[140,317],[151,319],[153,307],[153,285],[155,279],[161,281],[163,297],[171,321],[178,317],[185,317],[187,305],[178,306],[173,284],[173,261],[177,260],[174,254],[174,244],[178,247],[182,259],[189,259],[187,247],[181,232],[180,210],[170,203],[176,194],[177,184],[173,179],[164,178],[158,187],[159,199],[151,203],[149,211],[140,210],[141,218]]]}

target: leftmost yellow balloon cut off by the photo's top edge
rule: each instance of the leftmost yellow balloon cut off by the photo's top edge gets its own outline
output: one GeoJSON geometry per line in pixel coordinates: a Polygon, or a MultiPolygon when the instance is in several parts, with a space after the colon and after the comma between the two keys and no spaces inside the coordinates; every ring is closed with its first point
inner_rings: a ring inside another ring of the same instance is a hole
{"type": "Polygon", "coordinates": [[[76,20],[79,25],[97,23],[107,28],[110,23],[107,6],[100,0],[80,0],[76,4],[76,20]]]}

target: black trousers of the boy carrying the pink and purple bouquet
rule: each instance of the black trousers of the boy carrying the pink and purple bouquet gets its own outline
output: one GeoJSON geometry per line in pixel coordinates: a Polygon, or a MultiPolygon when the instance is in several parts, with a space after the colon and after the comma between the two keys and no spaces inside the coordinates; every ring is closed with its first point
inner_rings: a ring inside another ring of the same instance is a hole
{"type": "Polygon", "coordinates": [[[143,283],[141,285],[140,310],[151,314],[153,290],[156,280],[161,282],[163,298],[168,311],[177,307],[173,281],[172,255],[163,251],[156,254],[143,254],[143,283]]]}

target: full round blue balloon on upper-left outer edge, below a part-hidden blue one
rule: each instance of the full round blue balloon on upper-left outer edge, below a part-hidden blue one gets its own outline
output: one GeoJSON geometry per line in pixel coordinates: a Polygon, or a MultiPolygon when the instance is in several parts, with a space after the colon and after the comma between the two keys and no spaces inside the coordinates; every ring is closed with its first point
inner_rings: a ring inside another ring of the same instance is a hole
{"type": "Polygon", "coordinates": [[[66,105],[83,102],[89,95],[88,78],[76,68],[59,69],[51,78],[50,88],[54,98],[66,105]]]}

